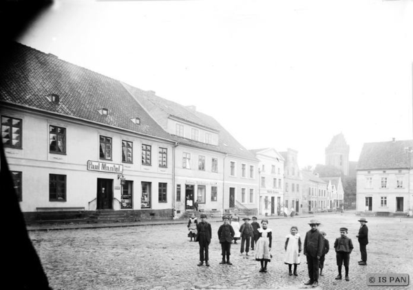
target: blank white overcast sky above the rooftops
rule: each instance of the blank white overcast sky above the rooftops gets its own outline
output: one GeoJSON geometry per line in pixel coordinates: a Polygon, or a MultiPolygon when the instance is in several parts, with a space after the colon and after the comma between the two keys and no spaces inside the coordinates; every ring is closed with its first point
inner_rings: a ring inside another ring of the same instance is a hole
{"type": "Polygon", "coordinates": [[[412,139],[413,1],[57,0],[19,42],[324,164],[343,133],[412,139]]]}

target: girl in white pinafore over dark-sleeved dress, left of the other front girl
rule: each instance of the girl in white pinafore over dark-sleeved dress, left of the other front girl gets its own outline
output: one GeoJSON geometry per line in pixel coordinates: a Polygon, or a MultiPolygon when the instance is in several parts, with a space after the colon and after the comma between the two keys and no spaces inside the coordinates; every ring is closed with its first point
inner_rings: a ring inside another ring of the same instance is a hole
{"type": "Polygon", "coordinates": [[[268,262],[271,262],[271,244],[273,243],[273,231],[268,228],[268,220],[261,221],[262,227],[258,229],[259,236],[257,244],[255,245],[255,260],[260,261],[260,272],[266,272],[268,262]]]}

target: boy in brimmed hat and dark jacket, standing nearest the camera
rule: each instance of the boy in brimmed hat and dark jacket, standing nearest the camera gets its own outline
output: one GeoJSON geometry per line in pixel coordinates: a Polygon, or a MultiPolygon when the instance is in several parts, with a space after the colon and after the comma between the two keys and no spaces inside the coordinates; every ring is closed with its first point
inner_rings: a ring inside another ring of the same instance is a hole
{"type": "Polygon", "coordinates": [[[319,278],[319,260],[321,254],[323,254],[324,238],[319,232],[318,226],[320,223],[312,219],[310,223],[311,230],[306,233],[306,239],[304,240],[304,255],[307,258],[308,277],[310,280],[304,283],[304,285],[318,286],[319,278]]]}

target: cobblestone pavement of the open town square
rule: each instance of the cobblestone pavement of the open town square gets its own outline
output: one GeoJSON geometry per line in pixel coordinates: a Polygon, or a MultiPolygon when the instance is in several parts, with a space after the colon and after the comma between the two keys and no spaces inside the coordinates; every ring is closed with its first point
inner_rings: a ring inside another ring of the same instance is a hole
{"type": "MultiPolygon", "coordinates": [[[[324,276],[313,289],[413,289],[407,287],[368,287],[367,274],[413,274],[413,219],[368,218],[368,265],[359,266],[359,216],[318,214],[320,230],[330,245],[339,237],[339,228],[348,227],[354,243],[350,257],[350,281],[335,280],[337,265],[334,249],[326,256],[324,276]]],[[[310,230],[308,218],[270,219],[273,229],[273,260],[268,273],[252,256],[240,256],[240,244],[231,246],[230,265],[220,265],[218,227],[211,222],[213,240],[209,248],[211,267],[197,267],[199,246],[189,242],[184,224],[112,227],[100,229],[29,232],[50,285],[63,289],[306,289],[305,256],[298,276],[288,276],[284,265],[284,242],[292,225],[304,238],[310,230]]]]}

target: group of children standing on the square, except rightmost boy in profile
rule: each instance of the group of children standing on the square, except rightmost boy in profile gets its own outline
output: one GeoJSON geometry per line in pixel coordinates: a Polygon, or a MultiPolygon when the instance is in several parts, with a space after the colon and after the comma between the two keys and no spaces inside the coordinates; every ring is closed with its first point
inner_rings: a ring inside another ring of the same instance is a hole
{"type": "MultiPolygon", "coordinates": [[[[189,219],[188,236],[191,237],[191,241],[192,238],[195,241],[196,236],[198,237],[196,241],[200,242],[200,263],[198,263],[198,266],[203,265],[203,261],[205,261],[206,265],[209,266],[208,245],[211,241],[211,225],[206,222],[207,216],[205,214],[201,214],[200,217],[202,220],[201,223],[198,223],[194,214],[189,219]],[[204,228],[209,228],[209,232],[207,232],[207,239],[202,240],[207,242],[202,242],[199,238],[200,236],[205,236],[205,234],[200,234],[200,232],[204,232],[204,228]]],[[[231,223],[232,218],[233,216],[223,216],[223,223],[218,229],[218,239],[220,241],[222,249],[222,261],[220,262],[220,264],[232,265],[230,261],[231,243],[232,241],[236,243],[235,236],[237,234],[237,231],[241,239],[240,255],[243,255],[245,250],[246,256],[249,256],[248,252],[251,247],[252,250],[255,250],[255,260],[260,261],[261,263],[260,272],[266,272],[267,264],[268,262],[271,262],[271,258],[273,257],[271,255],[273,235],[272,230],[268,228],[268,220],[263,219],[260,225],[260,223],[257,222],[257,217],[253,216],[253,222],[250,224],[250,219],[248,217],[245,217],[244,219],[242,219],[244,223],[241,226],[239,226],[238,224],[235,224],[233,226],[234,222],[231,223]]],[[[239,217],[235,219],[235,223],[237,223],[239,220],[239,217]]],[[[310,280],[308,280],[308,282],[304,284],[317,287],[318,277],[323,276],[324,260],[326,254],[330,250],[330,244],[326,238],[326,232],[318,230],[318,226],[320,225],[318,221],[311,220],[308,225],[310,225],[311,230],[306,233],[304,245],[303,243],[301,243],[301,236],[298,233],[298,228],[296,226],[290,228],[290,234],[286,236],[284,245],[284,263],[288,265],[288,274],[290,276],[298,276],[297,265],[301,263],[300,255],[304,249],[304,255],[306,256],[308,265],[308,276],[310,277],[310,280]]],[[[350,280],[348,276],[349,261],[350,254],[354,247],[352,240],[348,238],[347,233],[348,229],[346,227],[341,227],[340,237],[336,238],[334,243],[337,267],[339,271],[339,275],[336,277],[336,280],[341,280],[342,278],[341,269],[343,265],[346,274],[345,279],[347,281],[350,280]]]]}

